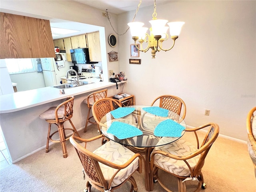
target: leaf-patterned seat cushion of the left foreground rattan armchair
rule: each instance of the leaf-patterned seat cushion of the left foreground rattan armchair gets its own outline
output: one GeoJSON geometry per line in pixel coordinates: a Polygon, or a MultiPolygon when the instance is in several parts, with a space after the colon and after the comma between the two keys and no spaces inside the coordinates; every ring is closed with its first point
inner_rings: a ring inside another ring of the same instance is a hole
{"type": "MultiPolygon", "coordinates": [[[[100,146],[93,153],[110,162],[119,165],[126,163],[134,155],[134,152],[112,140],[100,146]]],[[[102,163],[99,163],[99,165],[105,180],[109,182],[113,174],[117,171],[117,169],[111,168],[102,163]]],[[[120,172],[116,174],[113,182],[111,183],[111,187],[117,186],[124,182],[126,178],[128,178],[135,170],[137,170],[137,168],[138,158],[136,158],[129,166],[120,170],[120,172]]]]}

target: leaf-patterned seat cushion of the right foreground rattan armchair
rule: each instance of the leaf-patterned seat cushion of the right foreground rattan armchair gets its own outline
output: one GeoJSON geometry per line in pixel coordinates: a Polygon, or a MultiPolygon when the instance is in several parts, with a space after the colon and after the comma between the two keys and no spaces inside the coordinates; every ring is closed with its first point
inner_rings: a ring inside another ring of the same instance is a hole
{"type": "MultiPolygon", "coordinates": [[[[159,142],[161,142],[161,140],[159,142]]],[[[193,144],[179,139],[176,142],[172,142],[164,146],[158,146],[154,148],[153,151],[155,150],[161,150],[176,156],[185,156],[196,151],[197,148],[193,144]]],[[[200,156],[201,155],[199,154],[198,156],[187,160],[192,169],[196,166],[200,156]]],[[[190,170],[183,160],[176,160],[161,154],[156,154],[154,157],[154,164],[172,174],[176,174],[178,176],[190,176],[190,170]]]]}

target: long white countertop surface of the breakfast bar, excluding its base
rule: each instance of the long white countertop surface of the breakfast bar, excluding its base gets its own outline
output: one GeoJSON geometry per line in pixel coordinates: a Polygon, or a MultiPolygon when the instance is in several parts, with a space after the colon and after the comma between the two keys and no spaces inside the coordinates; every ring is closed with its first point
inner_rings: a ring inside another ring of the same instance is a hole
{"type": "MultiPolygon", "coordinates": [[[[122,81],[125,83],[126,81],[122,81]]],[[[120,82],[118,83],[120,84],[120,82]]],[[[116,86],[112,82],[95,82],[92,84],[77,86],[65,89],[65,94],[60,95],[60,89],[54,87],[45,87],[28,91],[15,92],[0,96],[0,113],[10,113],[34,106],[46,104],[67,98],[68,96],[76,96],[102,88],[116,86]]]]}

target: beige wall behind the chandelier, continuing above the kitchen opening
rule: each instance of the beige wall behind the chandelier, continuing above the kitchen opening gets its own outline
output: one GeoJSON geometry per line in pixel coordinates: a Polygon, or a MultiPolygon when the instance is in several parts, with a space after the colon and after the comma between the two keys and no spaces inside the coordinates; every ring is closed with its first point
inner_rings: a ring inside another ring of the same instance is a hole
{"type": "MultiPolygon", "coordinates": [[[[150,104],[162,94],[176,95],[186,103],[189,126],[216,122],[220,134],[247,139],[246,115],[256,106],[256,1],[157,4],[157,18],[186,23],[172,50],[158,52],[156,59],[151,59],[150,51],[140,53],[140,65],[129,64],[129,46],[134,43],[129,31],[118,36],[115,48],[108,46],[108,35],[114,31],[102,17],[104,10],[70,1],[12,2],[1,0],[1,11],[105,27],[106,53],[114,50],[119,59],[107,59],[108,69],[126,73],[126,88],[136,96],[136,104],[150,104]],[[204,116],[205,109],[210,110],[210,116],[204,116]]],[[[140,8],[135,21],[149,26],[152,12],[151,6],[140,8]]],[[[123,33],[133,16],[134,11],[111,14],[112,24],[123,33]]]]}

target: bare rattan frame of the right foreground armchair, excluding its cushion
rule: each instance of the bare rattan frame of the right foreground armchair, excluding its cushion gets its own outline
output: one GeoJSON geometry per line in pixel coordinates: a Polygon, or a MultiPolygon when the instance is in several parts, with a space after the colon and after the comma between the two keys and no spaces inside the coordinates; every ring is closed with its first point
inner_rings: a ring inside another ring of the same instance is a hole
{"type": "MultiPolygon", "coordinates": [[[[150,169],[153,171],[154,180],[157,180],[159,182],[159,184],[168,192],[172,192],[172,191],[169,190],[164,185],[164,183],[161,182],[161,180],[159,180],[159,177],[158,177],[158,170],[162,169],[162,168],[154,165],[154,156],[156,154],[162,154],[162,155],[164,155],[166,157],[169,157],[169,158],[173,158],[173,159],[176,159],[176,160],[182,160],[188,166],[188,168],[190,170],[190,176],[178,176],[176,174],[168,172],[169,174],[172,174],[172,175],[176,176],[176,178],[178,180],[178,191],[179,192],[186,192],[186,182],[182,183],[182,181],[184,179],[190,178],[190,177],[197,178],[199,180],[198,186],[197,186],[197,188],[194,192],[200,191],[201,188],[206,188],[206,185],[204,184],[204,177],[203,177],[203,174],[202,174],[201,170],[202,170],[202,167],[204,165],[204,159],[206,158],[206,155],[208,154],[212,144],[214,143],[214,141],[218,137],[219,126],[215,123],[208,123],[208,124],[205,124],[205,125],[197,127],[197,128],[188,128],[188,129],[186,129],[186,131],[195,133],[198,150],[196,150],[196,151],[194,151],[191,154],[188,154],[186,156],[175,156],[173,154],[169,154],[169,153],[163,152],[161,150],[155,150],[151,154],[150,169]],[[209,127],[209,129],[208,129],[208,132],[207,132],[207,134],[206,134],[206,136],[205,136],[205,138],[204,138],[204,140],[203,140],[203,142],[200,146],[196,131],[200,130],[202,128],[206,128],[206,127],[209,127]],[[196,166],[194,168],[191,168],[190,165],[188,164],[187,160],[190,159],[190,158],[193,158],[193,157],[195,157],[199,154],[201,154],[201,156],[198,160],[198,163],[196,164],[196,166]]],[[[164,171],[167,172],[166,170],[164,170],[164,171]]]]}

